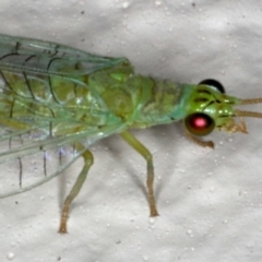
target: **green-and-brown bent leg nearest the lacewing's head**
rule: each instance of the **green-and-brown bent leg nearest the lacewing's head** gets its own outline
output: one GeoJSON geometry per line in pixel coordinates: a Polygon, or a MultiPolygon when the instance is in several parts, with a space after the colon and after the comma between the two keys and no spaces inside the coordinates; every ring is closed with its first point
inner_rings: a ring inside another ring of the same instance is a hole
{"type": "Polygon", "coordinates": [[[155,195],[154,195],[154,166],[153,166],[153,156],[150,151],[141,144],[139,140],[136,140],[133,134],[129,131],[123,131],[120,133],[122,139],[131,145],[141,156],[143,156],[146,160],[147,165],[147,190],[148,190],[148,202],[150,202],[150,213],[151,216],[157,216],[156,203],[155,203],[155,195]]]}

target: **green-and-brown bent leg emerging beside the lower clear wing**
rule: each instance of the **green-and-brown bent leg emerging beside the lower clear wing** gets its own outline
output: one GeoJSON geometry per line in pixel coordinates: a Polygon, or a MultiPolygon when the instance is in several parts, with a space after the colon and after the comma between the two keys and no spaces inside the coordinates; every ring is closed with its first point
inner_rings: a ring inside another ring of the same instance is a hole
{"type": "MultiPolygon", "coordinates": [[[[82,151],[83,150],[83,146],[81,144],[78,144],[76,145],[76,150],[78,151],[82,151]]],[[[70,204],[72,203],[72,201],[76,198],[76,195],[79,194],[86,177],[87,177],[87,174],[88,174],[88,170],[91,168],[91,166],[93,165],[94,163],[94,158],[93,158],[93,154],[90,152],[90,151],[84,151],[82,153],[82,156],[84,158],[84,167],[83,169],[81,170],[73,188],[71,189],[69,195],[67,196],[67,199],[64,200],[63,202],[63,209],[62,209],[62,213],[61,213],[61,221],[60,221],[60,227],[59,227],[59,230],[58,233],[61,233],[61,234],[66,234],[68,233],[67,230],[67,222],[68,222],[68,217],[69,217],[69,207],[70,207],[70,204]]]]}

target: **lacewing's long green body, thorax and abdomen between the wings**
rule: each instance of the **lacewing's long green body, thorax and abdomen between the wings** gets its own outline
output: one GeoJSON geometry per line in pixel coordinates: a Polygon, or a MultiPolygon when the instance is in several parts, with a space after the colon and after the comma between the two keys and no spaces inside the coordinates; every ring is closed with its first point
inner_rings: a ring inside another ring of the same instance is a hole
{"type": "MultiPolygon", "coordinates": [[[[199,86],[136,74],[127,60],[81,76],[70,76],[70,68],[62,70],[69,75],[35,78],[27,72],[2,71],[9,88],[0,97],[0,122],[50,136],[97,133],[110,127],[119,127],[120,132],[175,122],[210,104],[202,99],[202,106],[193,106],[199,86]]],[[[216,108],[213,111],[216,114],[216,108]]]]}

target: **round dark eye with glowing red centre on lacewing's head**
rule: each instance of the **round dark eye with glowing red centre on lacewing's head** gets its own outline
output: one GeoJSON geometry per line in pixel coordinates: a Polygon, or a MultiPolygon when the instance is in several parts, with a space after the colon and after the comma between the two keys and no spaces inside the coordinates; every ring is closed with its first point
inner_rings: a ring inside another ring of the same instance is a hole
{"type": "Polygon", "coordinates": [[[194,135],[206,135],[215,128],[215,121],[207,115],[195,112],[184,119],[188,131],[194,135]]]}

